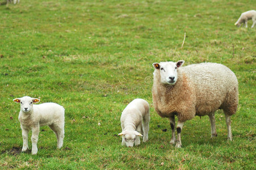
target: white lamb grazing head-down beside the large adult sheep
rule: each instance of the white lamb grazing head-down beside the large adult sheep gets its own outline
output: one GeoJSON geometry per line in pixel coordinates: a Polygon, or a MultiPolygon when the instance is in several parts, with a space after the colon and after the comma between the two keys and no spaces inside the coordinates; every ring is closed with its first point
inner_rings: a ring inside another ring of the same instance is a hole
{"type": "Polygon", "coordinates": [[[118,135],[122,135],[122,145],[140,145],[140,136],[143,135],[143,142],[148,141],[149,120],[149,104],[146,100],[135,99],[129,103],[120,118],[122,132],[118,135]]]}

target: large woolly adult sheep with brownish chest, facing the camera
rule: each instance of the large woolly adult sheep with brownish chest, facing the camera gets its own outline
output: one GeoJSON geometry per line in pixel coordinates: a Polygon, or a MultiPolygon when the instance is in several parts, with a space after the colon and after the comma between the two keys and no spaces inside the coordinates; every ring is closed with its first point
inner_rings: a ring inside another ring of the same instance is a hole
{"type": "Polygon", "coordinates": [[[230,116],[238,105],[236,75],[219,63],[199,63],[181,67],[184,61],[153,63],[153,104],[161,117],[170,119],[170,144],[181,147],[181,130],[184,122],[194,116],[209,116],[212,137],[217,137],[215,111],[223,109],[228,126],[228,139],[232,141],[230,116]],[[178,117],[177,141],[175,118],[178,117]]]}

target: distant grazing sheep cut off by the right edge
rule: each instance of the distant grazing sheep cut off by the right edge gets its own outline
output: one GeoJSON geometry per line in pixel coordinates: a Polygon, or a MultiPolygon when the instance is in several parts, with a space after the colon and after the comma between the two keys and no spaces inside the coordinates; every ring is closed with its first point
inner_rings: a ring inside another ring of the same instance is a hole
{"type": "Polygon", "coordinates": [[[237,27],[240,27],[242,23],[244,23],[245,27],[247,28],[247,20],[253,20],[253,25],[251,25],[251,28],[254,27],[256,24],[256,11],[255,10],[250,10],[246,11],[241,14],[240,18],[237,20],[237,22],[234,24],[237,27]]]}

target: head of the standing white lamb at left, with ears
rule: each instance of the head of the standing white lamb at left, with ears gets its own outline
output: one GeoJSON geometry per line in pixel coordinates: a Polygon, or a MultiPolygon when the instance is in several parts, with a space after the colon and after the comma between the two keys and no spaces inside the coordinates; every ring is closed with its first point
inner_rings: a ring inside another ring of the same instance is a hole
{"type": "Polygon", "coordinates": [[[33,110],[33,103],[39,103],[40,99],[24,96],[21,98],[16,98],[13,101],[20,103],[20,111],[24,113],[30,113],[33,110]]]}

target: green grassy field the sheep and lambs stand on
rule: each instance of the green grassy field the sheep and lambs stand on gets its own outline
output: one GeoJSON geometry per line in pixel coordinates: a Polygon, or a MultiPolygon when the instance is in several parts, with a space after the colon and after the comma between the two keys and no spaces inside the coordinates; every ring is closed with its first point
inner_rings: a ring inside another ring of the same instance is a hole
{"type": "Polygon", "coordinates": [[[256,29],[234,26],[241,12],[253,10],[255,1],[4,3],[1,168],[256,169],[256,29]],[[169,145],[169,120],[158,116],[152,104],[152,63],[179,59],[184,65],[223,63],[237,75],[240,102],[232,116],[232,142],[226,141],[223,111],[217,111],[217,138],[211,139],[208,117],[195,117],[183,126],[183,147],[169,145]],[[12,99],[25,95],[65,107],[60,150],[51,129],[42,127],[37,155],[31,155],[31,133],[30,151],[21,152],[19,104],[12,99]],[[127,148],[117,135],[120,115],[137,97],[150,104],[149,141],[127,148]]]}

